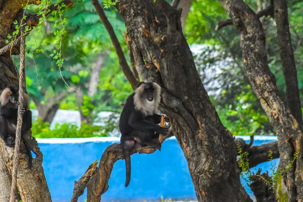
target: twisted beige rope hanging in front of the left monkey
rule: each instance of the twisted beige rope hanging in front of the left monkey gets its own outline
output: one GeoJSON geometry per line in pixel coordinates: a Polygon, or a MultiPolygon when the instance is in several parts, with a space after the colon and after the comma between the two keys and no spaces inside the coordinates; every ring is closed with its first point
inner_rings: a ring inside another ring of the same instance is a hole
{"type": "Polygon", "coordinates": [[[13,169],[12,169],[12,188],[10,194],[10,202],[16,201],[15,193],[17,192],[17,171],[19,165],[19,151],[20,151],[20,142],[21,142],[21,126],[22,126],[22,117],[20,110],[24,108],[24,97],[23,89],[26,89],[25,83],[25,34],[24,27],[20,28],[20,36],[14,40],[12,43],[6,45],[0,49],[0,55],[8,52],[12,47],[14,47],[20,41],[20,70],[19,70],[19,106],[18,106],[18,119],[17,119],[17,129],[16,129],[16,143],[14,149],[14,158],[13,158],[13,169]]]}

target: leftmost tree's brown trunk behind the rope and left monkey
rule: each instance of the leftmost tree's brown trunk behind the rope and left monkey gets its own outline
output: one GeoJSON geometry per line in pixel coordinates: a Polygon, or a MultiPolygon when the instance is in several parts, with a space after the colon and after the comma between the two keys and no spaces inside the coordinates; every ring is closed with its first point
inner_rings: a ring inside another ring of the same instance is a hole
{"type": "MultiPolygon", "coordinates": [[[[22,10],[22,5],[26,5],[27,2],[27,0],[2,1],[0,7],[0,48],[6,45],[5,40],[7,39],[8,34],[12,35],[12,32],[15,29],[13,21],[20,19],[19,13],[22,10]]],[[[33,4],[34,2],[36,1],[29,1],[29,4],[33,4]]],[[[20,53],[17,46],[12,48],[12,54],[20,53]]],[[[10,53],[0,55],[0,89],[3,89],[8,84],[18,84],[18,73],[16,69],[10,53]]],[[[17,175],[17,187],[19,191],[19,193],[16,193],[18,196],[17,198],[26,202],[52,201],[43,173],[42,153],[40,152],[35,139],[31,139],[31,132],[28,132],[26,138],[28,139],[30,148],[34,151],[36,158],[33,159],[32,168],[29,169],[28,156],[26,155],[23,143],[21,143],[20,164],[17,175]]],[[[0,201],[8,201],[8,189],[11,189],[13,155],[14,148],[6,146],[4,141],[0,139],[0,201]]]]}

